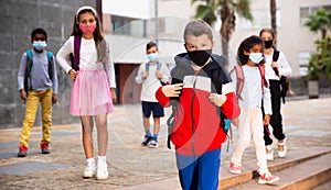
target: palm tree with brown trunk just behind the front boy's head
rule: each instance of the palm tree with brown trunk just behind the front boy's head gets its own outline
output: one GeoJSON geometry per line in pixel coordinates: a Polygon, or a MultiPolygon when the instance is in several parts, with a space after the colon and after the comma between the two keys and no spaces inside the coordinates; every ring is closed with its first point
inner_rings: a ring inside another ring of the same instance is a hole
{"type": "Polygon", "coordinates": [[[222,35],[223,55],[227,56],[227,44],[235,31],[235,12],[241,16],[253,20],[249,9],[249,0],[191,0],[191,3],[200,2],[196,8],[196,19],[203,19],[210,25],[214,25],[217,16],[221,14],[222,26],[220,34],[222,35]]]}

